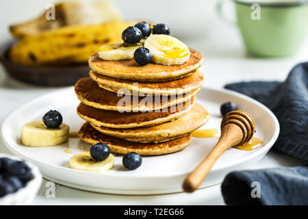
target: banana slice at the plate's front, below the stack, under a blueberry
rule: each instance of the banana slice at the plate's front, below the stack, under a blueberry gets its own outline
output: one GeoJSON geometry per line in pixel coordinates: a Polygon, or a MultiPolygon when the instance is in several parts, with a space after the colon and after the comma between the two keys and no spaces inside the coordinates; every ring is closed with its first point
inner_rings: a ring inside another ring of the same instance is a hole
{"type": "Polygon", "coordinates": [[[90,172],[107,172],[114,166],[114,155],[110,154],[102,162],[92,159],[90,152],[73,155],[69,160],[70,168],[90,172]]]}

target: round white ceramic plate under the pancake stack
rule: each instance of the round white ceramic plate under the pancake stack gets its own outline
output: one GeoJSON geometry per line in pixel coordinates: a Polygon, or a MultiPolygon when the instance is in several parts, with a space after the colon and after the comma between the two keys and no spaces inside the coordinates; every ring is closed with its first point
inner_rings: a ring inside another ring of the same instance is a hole
{"type": "MultiPolygon", "coordinates": [[[[233,148],[227,150],[213,166],[200,188],[221,183],[224,176],[232,170],[250,168],[266,155],[279,134],[277,118],[264,105],[237,92],[211,88],[202,88],[197,95],[197,102],[203,105],[211,116],[203,129],[220,130],[220,104],[226,101],[233,101],[240,110],[253,116],[257,129],[255,137],[264,140],[264,144],[254,151],[233,148]]],[[[193,138],[183,151],[143,157],[142,166],[136,170],[126,170],[122,165],[122,157],[115,157],[114,168],[103,174],[69,168],[68,159],[72,154],[64,150],[75,154],[82,152],[82,146],[85,146],[86,150],[90,149],[90,145],[79,138],[70,138],[65,144],[45,148],[31,148],[19,143],[21,127],[30,121],[40,120],[49,110],[61,112],[64,123],[70,125],[70,131],[78,131],[84,123],[76,113],[78,104],[73,88],[64,88],[41,96],[19,107],[5,119],[1,129],[3,141],[13,153],[36,164],[46,179],[72,188],[112,194],[181,192],[183,179],[218,141],[218,138],[193,138]]]]}

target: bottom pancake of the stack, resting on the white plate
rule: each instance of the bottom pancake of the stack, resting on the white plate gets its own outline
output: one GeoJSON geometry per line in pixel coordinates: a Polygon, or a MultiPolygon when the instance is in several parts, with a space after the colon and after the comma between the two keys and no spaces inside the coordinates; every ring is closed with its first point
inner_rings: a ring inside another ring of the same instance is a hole
{"type": "Polygon", "coordinates": [[[110,147],[112,153],[126,154],[135,152],[140,155],[164,155],[174,153],[185,149],[192,139],[191,135],[170,140],[159,144],[142,144],[138,142],[129,142],[121,138],[106,136],[94,129],[89,123],[85,123],[78,133],[79,138],[89,144],[105,143],[110,147]]]}

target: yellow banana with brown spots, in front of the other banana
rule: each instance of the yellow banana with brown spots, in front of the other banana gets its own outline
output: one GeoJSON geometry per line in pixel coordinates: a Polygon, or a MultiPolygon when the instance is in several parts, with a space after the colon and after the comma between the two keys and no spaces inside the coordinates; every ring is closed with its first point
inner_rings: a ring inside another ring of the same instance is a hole
{"type": "Polygon", "coordinates": [[[10,59],[26,66],[87,63],[102,44],[120,41],[123,30],[135,23],[72,25],[25,36],[10,49],[10,59]]]}

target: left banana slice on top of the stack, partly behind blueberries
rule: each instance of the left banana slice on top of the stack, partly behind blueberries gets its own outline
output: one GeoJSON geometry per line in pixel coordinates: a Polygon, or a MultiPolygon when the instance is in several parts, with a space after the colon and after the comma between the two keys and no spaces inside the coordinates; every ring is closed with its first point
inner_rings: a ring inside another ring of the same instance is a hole
{"type": "Polygon", "coordinates": [[[142,44],[127,45],[123,42],[104,44],[99,48],[99,57],[102,60],[131,60],[136,49],[142,44]]]}

